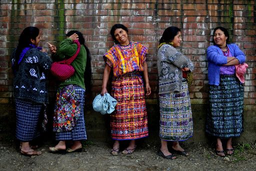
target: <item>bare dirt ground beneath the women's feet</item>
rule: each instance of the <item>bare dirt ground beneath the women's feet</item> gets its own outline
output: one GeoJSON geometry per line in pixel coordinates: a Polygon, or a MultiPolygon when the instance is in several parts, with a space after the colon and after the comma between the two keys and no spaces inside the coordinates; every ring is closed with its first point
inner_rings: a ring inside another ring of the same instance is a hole
{"type": "MultiPolygon", "coordinates": [[[[185,145],[189,156],[174,160],[157,155],[158,145],[138,144],[134,153],[110,154],[110,143],[86,141],[82,152],[52,154],[51,143],[39,156],[23,156],[15,143],[0,142],[0,170],[256,170],[256,144],[236,144],[235,153],[218,157],[207,144],[185,145]]],[[[122,147],[122,146],[121,146],[122,147]]],[[[122,147],[123,148],[123,147],[122,147]]]]}

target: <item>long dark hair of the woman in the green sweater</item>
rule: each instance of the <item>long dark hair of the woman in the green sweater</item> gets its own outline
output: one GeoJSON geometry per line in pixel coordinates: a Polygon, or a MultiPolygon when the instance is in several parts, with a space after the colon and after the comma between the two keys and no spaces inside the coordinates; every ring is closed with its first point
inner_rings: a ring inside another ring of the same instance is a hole
{"type": "Polygon", "coordinates": [[[90,52],[89,52],[89,49],[88,47],[84,44],[85,43],[85,40],[84,40],[84,37],[82,35],[82,33],[80,31],[76,31],[76,30],[71,30],[71,31],[68,31],[66,33],[66,36],[70,36],[72,34],[76,33],[78,35],[78,41],[80,44],[82,44],[84,47],[85,47],[85,50],[86,50],[86,67],[85,67],[85,71],[84,71],[84,74],[83,74],[83,77],[84,77],[84,84],[85,84],[85,89],[86,89],[86,93],[88,93],[91,89],[91,64],[90,64],[90,52]],[[86,75],[86,76],[85,76],[86,75]]]}

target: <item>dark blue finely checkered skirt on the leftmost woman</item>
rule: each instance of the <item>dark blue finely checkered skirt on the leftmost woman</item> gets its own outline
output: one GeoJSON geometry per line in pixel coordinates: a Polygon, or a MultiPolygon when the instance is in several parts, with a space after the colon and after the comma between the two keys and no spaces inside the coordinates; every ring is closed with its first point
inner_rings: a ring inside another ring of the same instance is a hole
{"type": "Polygon", "coordinates": [[[29,141],[39,136],[37,123],[43,104],[16,98],[15,107],[16,138],[21,141],[29,141]]]}

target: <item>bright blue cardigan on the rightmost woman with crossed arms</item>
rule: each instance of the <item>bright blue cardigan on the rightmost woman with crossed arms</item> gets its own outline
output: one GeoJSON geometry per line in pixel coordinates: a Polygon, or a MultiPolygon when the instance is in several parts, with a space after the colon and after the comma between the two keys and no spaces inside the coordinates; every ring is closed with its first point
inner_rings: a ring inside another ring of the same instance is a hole
{"type": "MultiPolygon", "coordinates": [[[[239,63],[244,63],[245,55],[236,44],[227,44],[227,47],[232,54],[239,60],[239,63]]],[[[227,63],[227,57],[223,55],[222,50],[217,45],[210,45],[206,51],[208,61],[208,84],[219,84],[220,66],[227,63]]]]}

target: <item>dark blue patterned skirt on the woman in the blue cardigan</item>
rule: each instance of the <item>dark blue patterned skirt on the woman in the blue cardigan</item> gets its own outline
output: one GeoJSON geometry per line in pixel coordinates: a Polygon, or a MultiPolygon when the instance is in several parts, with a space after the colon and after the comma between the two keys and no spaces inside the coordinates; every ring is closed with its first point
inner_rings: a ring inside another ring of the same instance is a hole
{"type": "Polygon", "coordinates": [[[206,132],[230,138],[243,131],[243,85],[235,75],[220,75],[219,85],[209,86],[206,132]]]}

